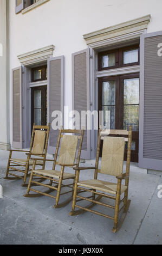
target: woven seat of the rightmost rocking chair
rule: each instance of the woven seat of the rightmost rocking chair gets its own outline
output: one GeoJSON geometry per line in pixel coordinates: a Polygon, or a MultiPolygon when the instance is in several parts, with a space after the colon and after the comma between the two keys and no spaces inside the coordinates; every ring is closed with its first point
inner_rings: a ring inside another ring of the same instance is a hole
{"type": "MultiPolygon", "coordinates": [[[[78,182],[77,185],[82,187],[94,188],[95,190],[100,190],[111,194],[116,194],[117,192],[117,184],[103,180],[84,180],[78,182]]],[[[127,186],[121,185],[121,194],[125,192],[126,189],[127,186]]]]}

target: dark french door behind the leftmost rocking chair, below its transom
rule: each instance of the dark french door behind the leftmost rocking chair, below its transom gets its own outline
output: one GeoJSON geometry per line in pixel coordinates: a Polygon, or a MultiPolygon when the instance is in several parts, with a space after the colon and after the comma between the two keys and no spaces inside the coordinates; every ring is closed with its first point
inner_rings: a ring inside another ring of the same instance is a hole
{"type": "Polygon", "coordinates": [[[47,86],[31,89],[31,130],[34,123],[47,125],[47,86]]]}

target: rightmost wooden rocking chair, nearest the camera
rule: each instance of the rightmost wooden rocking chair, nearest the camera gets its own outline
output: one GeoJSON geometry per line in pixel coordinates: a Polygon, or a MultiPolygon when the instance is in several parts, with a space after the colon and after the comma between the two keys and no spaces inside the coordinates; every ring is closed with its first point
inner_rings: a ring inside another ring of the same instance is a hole
{"type": "Polygon", "coordinates": [[[69,215],[79,215],[85,211],[93,212],[94,214],[111,218],[114,221],[113,232],[115,233],[121,226],[127,214],[130,200],[128,200],[128,185],[129,185],[129,167],[131,159],[131,143],[132,143],[132,127],[129,127],[129,131],[126,130],[100,130],[98,135],[98,147],[96,151],[96,162],[95,167],[75,167],[76,178],[73,193],[73,203],[72,212],[69,215]],[[114,135],[118,137],[111,137],[108,135],[114,135]],[[123,137],[121,137],[123,136],[123,137]],[[126,138],[127,136],[127,138],[126,138]],[[100,155],[100,144],[101,139],[103,139],[102,148],[102,159],[101,159],[101,169],[99,169],[99,155],[100,155]],[[124,164],[124,151],[125,151],[125,141],[128,142],[127,145],[127,162],[126,162],[126,172],[123,173],[124,164]],[[80,170],[95,169],[94,179],[79,181],[80,170]],[[98,179],[98,172],[102,174],[108,174],[116,176],[118,180],[117,183],[112,183],[108,181],[103,181],[98,179]],[[125,180],[125,184],[122,185],[121,181],[125,180]],[[80,193],[90,192],[92,194],[92,199],[90,197],[80,196],[80,193]],[[121,194],[124,193],[121,199],[121,194]],[[96,197],[98,196],[98,197],[96,197]],[[115,205],[110,205],[100,202],[100,199],[108,198],[115,200],[115,205]],[[82,200],[90,202],[86,207],[77,205],[76,203],[82,200]],[[123,204],[120,207],[120,204],[123,204]],[[101,206],[106,206],[108,208],[114,209],[114,216],[109,216],[102,214],[102,212],[91,210],[96,204],[101,206]],[[79,208],[79,210],[75,210],[79,208]],[[119,223],[119,213],[123,211],[123,214],[119,223]]]}

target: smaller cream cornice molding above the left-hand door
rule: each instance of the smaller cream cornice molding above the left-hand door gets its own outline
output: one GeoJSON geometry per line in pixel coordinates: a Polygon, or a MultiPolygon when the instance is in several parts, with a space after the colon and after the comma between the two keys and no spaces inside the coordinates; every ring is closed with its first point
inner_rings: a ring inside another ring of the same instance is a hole
{"type": "Polygon", "coordinates": [[[21,55],[18,55],[17,58],[20,60],[20,63],[24,66],[43,62],[48,58],[53,57],[53,52],[55,50],[54,45],[40,48],[31,52],[27,52],[21,55]]]}

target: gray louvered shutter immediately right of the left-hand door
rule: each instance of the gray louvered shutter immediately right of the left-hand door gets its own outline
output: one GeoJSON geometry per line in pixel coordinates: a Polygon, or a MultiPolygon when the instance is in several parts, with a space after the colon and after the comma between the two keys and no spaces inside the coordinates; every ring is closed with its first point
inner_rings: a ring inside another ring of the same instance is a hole
{"type": "MultiPolygon", "coordinates": [[[[64,56],[48,59],[48,122],[51,124],[49,133],[48,153],[55,154],[59,130],[53,130],[54,111],[62,112],[63,119],[63,88],[64,88],[64,56]]],[[[63,120],[62,120],[63,124],[63,120]]]]}

